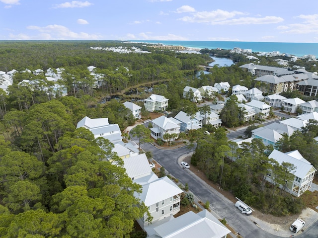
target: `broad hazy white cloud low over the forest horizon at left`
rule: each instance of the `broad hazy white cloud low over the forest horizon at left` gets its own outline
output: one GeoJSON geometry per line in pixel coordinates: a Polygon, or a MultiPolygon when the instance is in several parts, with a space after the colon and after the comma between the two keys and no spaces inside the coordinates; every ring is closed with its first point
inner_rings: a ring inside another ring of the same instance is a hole
{"type": "Polygon", "coordinates": [[[45,37],[55,40],[73,40],[73,39],[82,39],[82,40],[97,40],[100,39],[99,35],[90,35],[85,32],[76,33],[71,31],[69,28],[62,25],[47,25],[44,27],[41,26],[28,26],[27,29],[35,30],[39,32],[39,35],[36,36],[36,39],[42,40],[45,34],[45,37]]]}

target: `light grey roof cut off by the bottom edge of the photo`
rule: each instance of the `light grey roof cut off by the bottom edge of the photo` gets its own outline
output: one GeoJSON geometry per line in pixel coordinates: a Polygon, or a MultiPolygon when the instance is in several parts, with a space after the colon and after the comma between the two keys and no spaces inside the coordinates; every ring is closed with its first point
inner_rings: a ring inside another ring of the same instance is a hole
{"type": "Polygon", "coordinates": [[[160,238],[223,238],[231,231],[207,210],[190,211],[154,228],[160,238]]]}

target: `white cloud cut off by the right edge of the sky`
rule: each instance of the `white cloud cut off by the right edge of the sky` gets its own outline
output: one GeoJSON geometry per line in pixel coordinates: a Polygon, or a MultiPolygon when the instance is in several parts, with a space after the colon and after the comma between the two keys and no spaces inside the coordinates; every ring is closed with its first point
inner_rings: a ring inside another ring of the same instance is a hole
{"type": "Polygon", "coordinates": [[[288,34],[309,34],[318,33],[318,14],[314,15],[299,15],[296,18],[304,19],[301,23],[281,25],[277,27],[282,33],[288,34]]]}

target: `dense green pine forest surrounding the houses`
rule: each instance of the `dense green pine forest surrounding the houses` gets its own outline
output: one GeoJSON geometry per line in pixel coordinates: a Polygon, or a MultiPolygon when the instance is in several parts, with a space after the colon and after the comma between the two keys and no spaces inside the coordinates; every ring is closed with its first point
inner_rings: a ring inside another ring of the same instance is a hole
{"type": "MultiPolygon", "coordinates": [[[[186,54],[120,41],[0,42],[0,71],[17,70],[7,92],[0,88],[0,237],[135,236],[134,221],[147,211],[133,196],[141,187],[124,168],[105,160],[122,163],[111,153],[109,141],[94,139],[88,130],[76,129],[76,125],[84,116],[107,117],[124,131],[135,119],[122,102],[133,99],[142,106],[138,99],[147,98],[151,92],[145,89],[149,88],[169,99],[168,109],[173,114],[180,110],[193,114],[198,111],[196,103],[182,97],[186,85],[200,87],[221,81],[248,88],[255,85],[253,76],[239,69],[249,62],[241,56],[233,56],[237,64],[231,67],[215,66],[211,74],[203,74],[200,65],[212,61],[209,52],[205,53],[186,54]],[[91,48],[120,46],[150,53],[91,48]],[[98,86],[87,70],[89,66],[96,67],[98,86]],[[49,68],[65,69],[58,83],[67,89],[67,96],[50,91],[51,82],[43,75],[24,72],[41,69],[45,73],[49,68]],[[38,83],[31,87],[19,84],[22,80],[38,83]]],[[[263,57],[260,61],[277,66],[272,59],[263,57]]],[[[142,113],[148,116],[146,111],[142,113]]],[[[315,123],[309,126],[284,138],[280,147],[283,151],[301,150],[317,165],[313,138],[318,129],[315,123]]],[[[187,139],[197,143],[192,163],[211,180],[248,199],[251,205],[259,204],[265,212],[288,215],[300,211],[301,199],[281,196],[277,187],[265,185],[268,148],[255,141],[244,145],[243,153],[227,141],[224,128],[206,130],[212,132],[210,136],[193,132],[187,139]],[[238,156],[241,159],[234,162],[238,156]],[[269,207],[275,199],[280,209],[269,207]]]]}

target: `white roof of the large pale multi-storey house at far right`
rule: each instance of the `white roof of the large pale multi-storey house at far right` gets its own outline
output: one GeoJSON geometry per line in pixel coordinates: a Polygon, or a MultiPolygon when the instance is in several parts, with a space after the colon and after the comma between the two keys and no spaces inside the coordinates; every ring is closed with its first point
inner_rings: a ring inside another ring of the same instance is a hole
{"type": "Polygon", "coordinates": [[[282,162],[289,162],[289,163],[294,164],[296,166],[296,169],[292,173],[295,176],[300,177],[300,178],[304,178],[307,175],[307,173],[312,168],[314,168],[314,166],[307,159],[303,158],[303,156],[298,151],[283,153],[283,152],[274,150],[269,155],[268,158],[275,159],[280,164],[282,162]]]}

